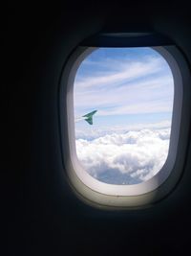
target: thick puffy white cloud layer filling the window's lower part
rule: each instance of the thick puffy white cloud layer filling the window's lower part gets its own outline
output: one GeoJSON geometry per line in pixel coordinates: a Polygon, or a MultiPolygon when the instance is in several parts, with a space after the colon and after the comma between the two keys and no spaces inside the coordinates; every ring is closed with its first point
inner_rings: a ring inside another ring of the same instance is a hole
{"type": "Polygon", "coordinates": [[[76,139],[84,169],[106,183],[133,184],[148,180],[163,166],[170,128],[113,132],[94,140],[76,139]]]}

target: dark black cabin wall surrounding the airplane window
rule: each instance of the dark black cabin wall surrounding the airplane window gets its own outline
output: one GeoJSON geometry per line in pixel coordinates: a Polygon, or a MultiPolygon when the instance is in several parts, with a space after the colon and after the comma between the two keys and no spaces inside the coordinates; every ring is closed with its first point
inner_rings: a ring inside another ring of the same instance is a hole
{"type": "Polygon", "coordinates": [[[2,221],[8,255],[181,255],[189,248],[191,151],[168,198],[138,211],[103,211],[84,204],[68,185],[58,122],[60,73],[81,40],[103,29],[154,29],[172,38],[190,64],[188,10],[159,2],[5,10],[2,221]]]}

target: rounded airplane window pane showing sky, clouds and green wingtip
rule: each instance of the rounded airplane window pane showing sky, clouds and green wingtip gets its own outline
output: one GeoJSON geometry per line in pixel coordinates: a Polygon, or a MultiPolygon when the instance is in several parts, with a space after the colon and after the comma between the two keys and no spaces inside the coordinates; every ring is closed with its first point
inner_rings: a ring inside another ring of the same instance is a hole
{"type": "Polygon", "coordinates": [[[139,184],[157,175],[169,151],[171,69],[150,47],[97,48],[74,78],[75,150],[96,180],[139,184]]]}

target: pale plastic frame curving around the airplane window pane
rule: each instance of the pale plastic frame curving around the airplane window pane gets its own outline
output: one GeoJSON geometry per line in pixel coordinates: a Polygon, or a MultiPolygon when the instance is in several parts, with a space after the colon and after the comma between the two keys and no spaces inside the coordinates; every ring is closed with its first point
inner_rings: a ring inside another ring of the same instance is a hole
{"type": "Polygon", "coordinates": [[[151,47],[169,64],[174,78],[174,105],[169,152],[159,173],[134,185],[107,184],[89,175],[78,161],[74,134],[74,78],[84,58],[96,47],[82,47],[64,65],[60,80],[59,113],[63,168],[75,194],[89,204],[106,208],[131,208],[152,204],[166,197],[182,174],[189,135],[190,73],[185,59],[176,46],[151,47]]]}

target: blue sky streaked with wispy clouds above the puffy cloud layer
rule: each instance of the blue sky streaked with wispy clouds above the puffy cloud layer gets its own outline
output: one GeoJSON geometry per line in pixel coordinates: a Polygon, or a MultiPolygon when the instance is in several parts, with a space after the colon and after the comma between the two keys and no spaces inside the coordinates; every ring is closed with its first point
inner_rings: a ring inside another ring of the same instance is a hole
{"type": "Polygon", "coordinates": [[[171,121],[173,96],[171,70],[154,49],[99,48],[77,70],[74,116],[97,109],[99,128],[171,121]]]}

